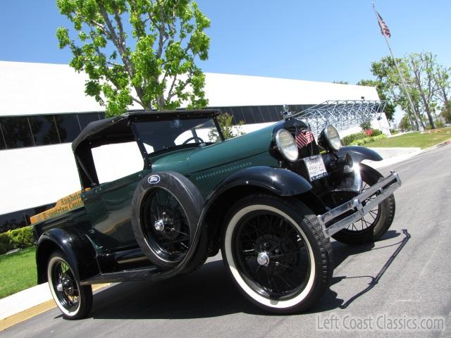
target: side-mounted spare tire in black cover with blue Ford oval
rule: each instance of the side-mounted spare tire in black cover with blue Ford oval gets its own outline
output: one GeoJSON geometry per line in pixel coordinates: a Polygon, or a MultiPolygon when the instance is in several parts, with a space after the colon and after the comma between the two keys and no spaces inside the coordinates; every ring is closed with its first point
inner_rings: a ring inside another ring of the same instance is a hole
{"type": "Polygon", "coordinates": [[[137,185],[132,228],[149,261],[174,268],[190,249],[204,199],[187,177],[172,171],[152,173],[137,185]]]}

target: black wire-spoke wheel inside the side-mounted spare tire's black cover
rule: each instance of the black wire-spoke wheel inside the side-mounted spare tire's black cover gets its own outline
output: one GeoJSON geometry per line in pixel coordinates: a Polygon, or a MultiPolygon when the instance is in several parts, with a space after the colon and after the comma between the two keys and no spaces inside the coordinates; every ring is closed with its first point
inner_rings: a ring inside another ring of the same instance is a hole
{"type": "Polygon", "coordinates": [[[190,247],[190,225],[171,192],[153,189],[142,201],[141,219],[149,246],[168,262],[180,261],[190,247]]]}

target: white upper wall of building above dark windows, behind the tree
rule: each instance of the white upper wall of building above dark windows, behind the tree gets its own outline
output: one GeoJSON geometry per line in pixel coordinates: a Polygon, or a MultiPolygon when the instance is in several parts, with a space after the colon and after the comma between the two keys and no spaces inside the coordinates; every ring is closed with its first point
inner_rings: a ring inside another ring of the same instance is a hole
{"type": "MultiPolygon", "coordinates": [[[[0,116],[103,111],[85,96],[84,73],[68,65],[0,61],[0,116]]],[[[374,87],[273,77],[206,73],[209,106],[321,104],[327,100],[378,100],[374,87]]],[[[141,108],[131,106],[130,108],[141,108]]]]}

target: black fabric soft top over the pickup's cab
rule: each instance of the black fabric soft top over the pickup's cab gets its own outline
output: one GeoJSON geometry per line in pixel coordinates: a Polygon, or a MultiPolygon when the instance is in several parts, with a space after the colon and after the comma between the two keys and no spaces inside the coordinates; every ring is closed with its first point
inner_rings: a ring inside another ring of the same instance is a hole
{"type": "Polygon", "coordinates": [[[74,152],[82,145],[89,148],[102,144],[130,142],[134,140],[132,130],[128,127],[130,121],[171,120],[173,118],[209,118],[219,114],[216,109],[178,110],[178,111],[129,111],[113,118],[89,123],[72,142],[74,152]]]}

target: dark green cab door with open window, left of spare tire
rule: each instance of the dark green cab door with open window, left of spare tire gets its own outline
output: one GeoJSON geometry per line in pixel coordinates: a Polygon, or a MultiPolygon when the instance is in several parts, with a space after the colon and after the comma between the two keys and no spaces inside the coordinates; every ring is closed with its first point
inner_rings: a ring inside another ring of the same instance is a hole
{"type": "Polygon", "coordinates": [[[137,246],[130,220],[131,202],[143,170],[135,142],[107,144],[92,149],[99,184],[85,191],[84,202],[94,239],[101,251],[137,246]]]}

